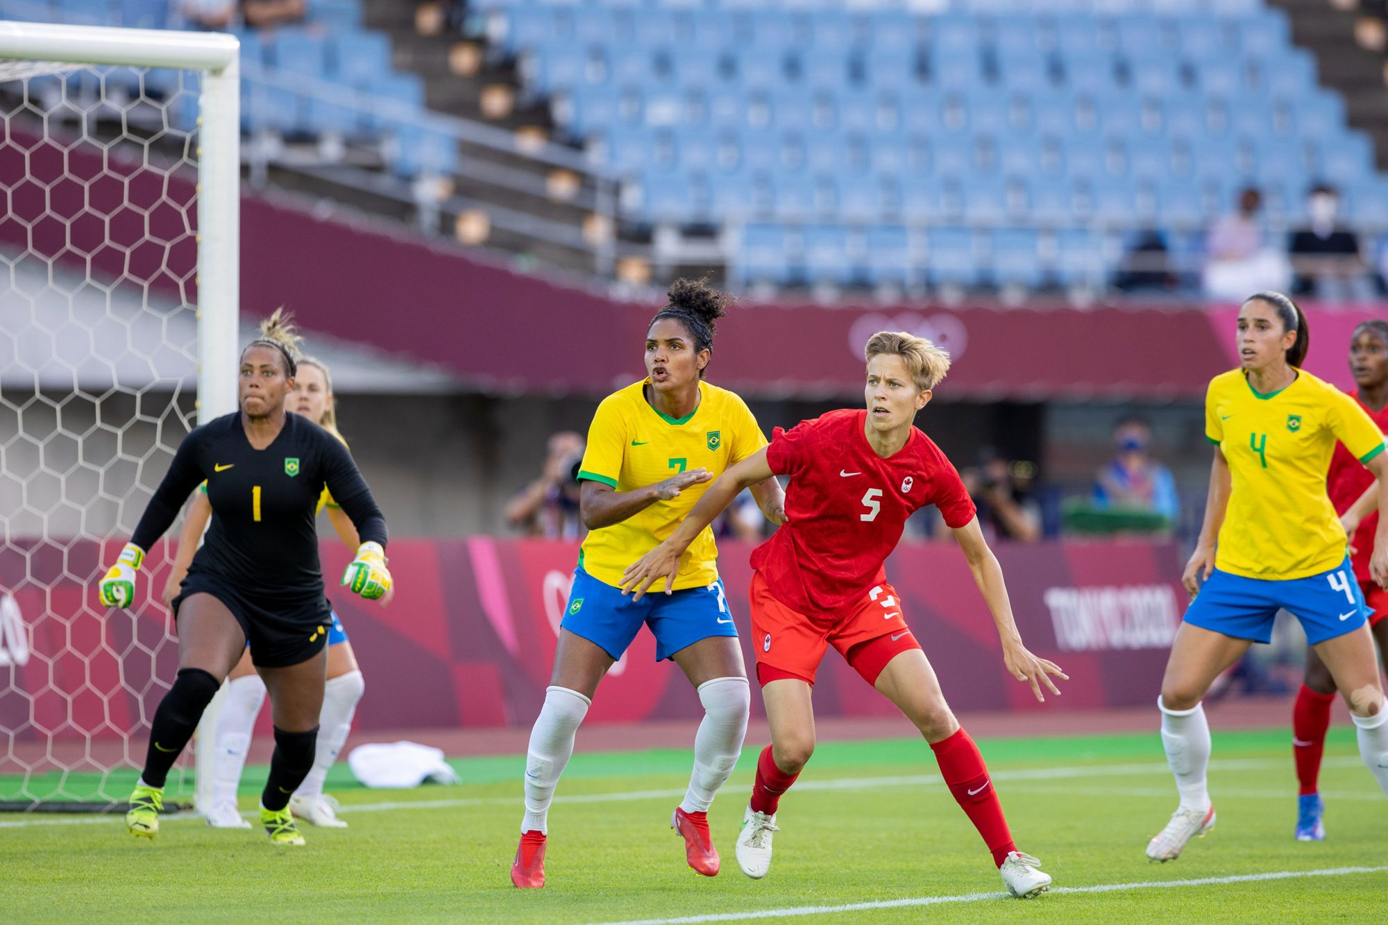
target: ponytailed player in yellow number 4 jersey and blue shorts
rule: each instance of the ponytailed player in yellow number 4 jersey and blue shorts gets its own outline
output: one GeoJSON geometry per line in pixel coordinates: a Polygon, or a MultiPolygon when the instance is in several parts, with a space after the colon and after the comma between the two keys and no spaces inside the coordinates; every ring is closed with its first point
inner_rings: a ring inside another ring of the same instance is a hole
{"type": "MultiPolygon", "coordinates": [[[[1205,522],[1183,582],[1191,606],[1162,679],[1162,744],[1180,806],[1146,846],[1170,861],[1214,828],[1205,781],[1210,732],[1201,700],[1255,642],[1271,639],[1288,610],[1330,669],[1359,736],[1359,753],[1388,794],[1388,703],[1355,581],[1346,536],[1326,493],[1339,440],[1378,479],[1388,506],[1382,433],[1353,399],[1301,369],[1306,317],[1287,296],[1260,292],[1238,311],[1239,368],[1214,376],[1205,435],[1214,449],[1205,522]],[[1203,578],[1203,583],[1201,579],[1203,578]]],[[[1371,500],[1371,499],[1370,499],[1371,500]]],[[[1388,518],[1374,536],[1370,572],[1388,583],[1388,518]]]]}

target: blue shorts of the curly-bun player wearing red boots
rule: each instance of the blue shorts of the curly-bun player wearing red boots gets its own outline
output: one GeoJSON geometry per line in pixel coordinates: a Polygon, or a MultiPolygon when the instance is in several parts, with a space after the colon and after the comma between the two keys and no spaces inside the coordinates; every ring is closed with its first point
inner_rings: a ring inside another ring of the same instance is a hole
{"type": "Polygon", "coordinates": [[[620,588],[600,582],[582,568],[573,571],[573,589],[561,626],[620,658],[641,624],[655,636],[657,661],[709,636],[737,636],[733,615],[727,612],[723,579],[673,594],[651,592],[633,603],[620,588]]]}

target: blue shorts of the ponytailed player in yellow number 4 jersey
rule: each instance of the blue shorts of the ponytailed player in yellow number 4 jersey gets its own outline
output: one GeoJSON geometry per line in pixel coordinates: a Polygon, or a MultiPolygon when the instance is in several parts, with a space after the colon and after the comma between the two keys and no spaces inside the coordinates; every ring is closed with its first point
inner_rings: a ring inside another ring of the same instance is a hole
{"type": "Polygon", "coordinates": [[[1359,629],[1373,612],[1346,556],[1339,568],[1289,581],[1244,578],[1216,568],[1184,619],[1234,639],[1266,643],[1273,639],[1273,619],[1283,608],[1301,621],[1313,646],[1359,629]]]}

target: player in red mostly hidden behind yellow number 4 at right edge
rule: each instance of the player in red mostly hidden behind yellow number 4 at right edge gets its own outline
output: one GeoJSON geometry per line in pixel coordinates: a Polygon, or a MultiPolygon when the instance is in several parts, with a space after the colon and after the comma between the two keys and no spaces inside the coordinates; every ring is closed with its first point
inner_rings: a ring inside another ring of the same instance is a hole
{"type": "MultiPolygon", "coordinates": [[[[1352,397],[1378,429],[1388,433],[1388,321],[1374,318],[1355,328],[1349,340],[1349,371],[1359,386],[1352,397]]],[[[1388,592],[1369,575],[1369,558],[1374,551],[1374,532],[1378,529],[1378,492],[1374,474],[1345,449],[1335,444],[1330,458],[1326,488],[1339,522],[1349,536],[1351,564],[1355,579],[1373,610],[1369,625],[1378,640],[1378,654],[1388,668],[1388,592]]],[[[1330,729],[1330,707],[1335,703],[1335,679],[1314,649],[1306,649],[1306,678],[1296,692],[1292,707],[1292,756],[1296,758],[1299,783],[1296,806],[1296,840],[1320,842],[1326,838],[1321,819],[1326,804],[1320,799],[1320,758],[1326,751],[1326,731],[1330,729]]]]}

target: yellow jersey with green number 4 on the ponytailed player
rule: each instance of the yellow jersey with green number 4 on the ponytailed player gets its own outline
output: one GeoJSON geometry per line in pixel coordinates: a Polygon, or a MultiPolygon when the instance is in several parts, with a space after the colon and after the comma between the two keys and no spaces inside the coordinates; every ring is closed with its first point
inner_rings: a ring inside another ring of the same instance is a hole
{"type": "Polygon", "coordinates": [[[1233,481],[1216,568],[1291,581],[1345,561],[1345,531],[1326,493],[1335,440],[1362,462],[1384,450],[1382,432],[1359,403],[1305,369],[1270,394],[1231,369],[1210,379],[1205,436],[1219,444],[1233,481]]]}

